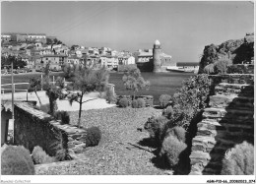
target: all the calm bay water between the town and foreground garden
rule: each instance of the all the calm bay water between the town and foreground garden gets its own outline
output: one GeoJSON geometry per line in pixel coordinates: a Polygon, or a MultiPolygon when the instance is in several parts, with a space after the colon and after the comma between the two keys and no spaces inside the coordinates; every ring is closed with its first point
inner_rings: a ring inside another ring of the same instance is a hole
{"type": "MultiPolygon", "coordinates": [[[[51,76],[63,76],[62,73],[50,74],[51,76]]],[[[159,103],[160,94],[167,93],[172,95],[177,88],[180,88],[182,81],[193,76],[192,73],[142,73],[145,80],[151,82],[151,87],[149,91],[138,92],[138,95],[154,95],[154,103],[159,103]]],[[[115,92],[118,95],[132,94],[131,91],[126,91],[122,82],[123,74],[110,73],[109,83],[115,85],[115,92]]],[[[29,83],[30,78],[40,77],[40,74],[30,74],[30,75],[15,75],[15,83],[29,83]]],[[[1,83],[8,84],[11,83],[11,76],[2,76],[1,83]]],[[[6,87],[7,88],[7,87],[6,87]]],[[[11,88],[11,87],[8,87],[11,88]]],[[[16,89],[28,89],[27,85],[17,86],[16,89]]]]}

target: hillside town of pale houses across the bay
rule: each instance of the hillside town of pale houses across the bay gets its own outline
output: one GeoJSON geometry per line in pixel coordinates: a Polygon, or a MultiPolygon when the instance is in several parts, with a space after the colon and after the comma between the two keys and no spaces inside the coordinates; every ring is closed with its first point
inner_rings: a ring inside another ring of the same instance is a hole
{"type": "MultiPolygon", "coordinates": [[[[156,40],[155,44],[160,44],[160,41],[156,40]]],[[[89,68],[105,66],[109,70],[118,70],[120,65],[131,64],[137,64],[143,68],[153,59],[152,48],[131,52],[117,51],[104,46],[98,48],[72,45],[69,47],[56,36],[48,36],[45,33],[2,33],[1,45],[2,59],[9,55],[15,56],[26,63],[26,72],[41,72],[47,63],[50,65],[50,70],[54,72],[62,71],[66,64],[78,64],[89,68]]],[[[171,56],[163,52],[160,52],[160,62],[165,69],[168,66],[176,66],[171,56]]],[[[8,74],[6,67],[2,67],[2,70],[2,74],[8,74]]],[[[16,73],[19,72],[24,71],[20,70],[16,73]]]]}

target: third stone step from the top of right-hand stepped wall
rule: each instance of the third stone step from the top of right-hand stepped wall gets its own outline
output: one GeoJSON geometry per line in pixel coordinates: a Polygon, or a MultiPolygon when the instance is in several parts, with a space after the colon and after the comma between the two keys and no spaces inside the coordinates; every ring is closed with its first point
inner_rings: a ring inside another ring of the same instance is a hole
{"type": "Polygon", "coordinates": [[[211,107],[233,107],[237,109],[247,109],[254,107],[254,97],[251,96],[237,96],[236,94],[223,95],[217,94],[210,96],[209,105],[211,107]]]}

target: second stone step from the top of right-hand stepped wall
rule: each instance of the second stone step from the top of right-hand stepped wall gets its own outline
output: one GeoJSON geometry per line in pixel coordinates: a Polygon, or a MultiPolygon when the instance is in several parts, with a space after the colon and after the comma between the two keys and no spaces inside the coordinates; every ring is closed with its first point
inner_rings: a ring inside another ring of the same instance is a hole
{"type": "Polygon", "coordinates": [[[237,94],[239,96],[254,96],[254,86],[248,84],[220,83],[215,87],[215,94],[237,94]]]}

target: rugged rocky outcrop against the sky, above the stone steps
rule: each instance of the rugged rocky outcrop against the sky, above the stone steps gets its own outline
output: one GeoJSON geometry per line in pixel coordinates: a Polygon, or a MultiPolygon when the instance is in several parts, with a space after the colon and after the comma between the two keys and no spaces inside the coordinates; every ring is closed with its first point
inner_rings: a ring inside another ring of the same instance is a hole
{"type": "Polygon", "coordinates": [[[199,72],[221,59],[229,59],[233,64],[251,63],[254,59],[254,33],[246,33],[242,39],[227,40],[220,45],[205,46],[199,72]]]}

